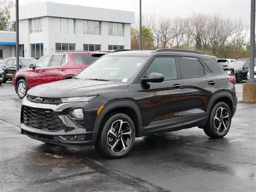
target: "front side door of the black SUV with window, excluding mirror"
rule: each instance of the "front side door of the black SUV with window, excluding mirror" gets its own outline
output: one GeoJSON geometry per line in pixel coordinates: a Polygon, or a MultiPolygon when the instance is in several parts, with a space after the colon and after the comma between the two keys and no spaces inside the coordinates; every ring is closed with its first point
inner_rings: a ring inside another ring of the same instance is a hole
{"type": "Polygon", "coordinates": [[[164,75],[160,83],[142,84],[144,134],[182,127],[183,82],[175,57],[156,57],[144,77],[152,72],[164,75]]]}

